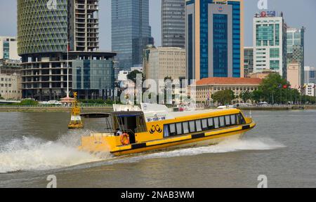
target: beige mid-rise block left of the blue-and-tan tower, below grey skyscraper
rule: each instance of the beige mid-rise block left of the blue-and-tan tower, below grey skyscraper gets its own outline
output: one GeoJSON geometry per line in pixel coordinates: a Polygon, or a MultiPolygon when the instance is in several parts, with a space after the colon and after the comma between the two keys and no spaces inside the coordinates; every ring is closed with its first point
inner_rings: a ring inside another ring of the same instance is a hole
{"type": "Polygon", "coordinates": [[[185,49],[152,47],[144,52],[145,79],[158,82],[166,77],[172,80],[185,78],[185,49]]]}

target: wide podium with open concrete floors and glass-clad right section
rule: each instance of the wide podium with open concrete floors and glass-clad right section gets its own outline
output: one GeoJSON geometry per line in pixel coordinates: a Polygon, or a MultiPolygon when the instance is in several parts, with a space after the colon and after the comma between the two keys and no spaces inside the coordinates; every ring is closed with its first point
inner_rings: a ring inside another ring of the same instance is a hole
{"type": "MultiPolygon", "coordinates": [[[[103,98],[114,88],[115,53],[70,52],[70,90],[82,99],[103,98]]],[[[67,93],[67,53],[24,55],[22,60],[22,97],[58,100],[67,93]]]]}

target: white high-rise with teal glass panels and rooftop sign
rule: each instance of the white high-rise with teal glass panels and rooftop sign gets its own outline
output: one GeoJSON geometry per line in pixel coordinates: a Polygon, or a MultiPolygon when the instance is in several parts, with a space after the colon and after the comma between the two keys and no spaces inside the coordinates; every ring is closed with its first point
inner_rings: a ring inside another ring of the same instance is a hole
{"type": "Polygon", "coordinates": [[[287,78],[287,25],[282,14],[261,12],[254,17],[254,73],[271,70],[287,78]]]}

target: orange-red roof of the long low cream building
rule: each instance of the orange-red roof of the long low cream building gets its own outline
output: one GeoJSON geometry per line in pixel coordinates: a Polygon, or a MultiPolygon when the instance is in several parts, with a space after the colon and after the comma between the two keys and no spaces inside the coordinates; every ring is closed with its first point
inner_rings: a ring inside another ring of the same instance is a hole
{"type": "Polygon", "coordinates": [[[197,81],[197,86],[205,86],[205,85],[259,85],[262,79],[258,78],[222,78],[222,77],[211,77],[205,78],[197,81]]]}

